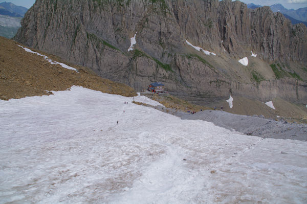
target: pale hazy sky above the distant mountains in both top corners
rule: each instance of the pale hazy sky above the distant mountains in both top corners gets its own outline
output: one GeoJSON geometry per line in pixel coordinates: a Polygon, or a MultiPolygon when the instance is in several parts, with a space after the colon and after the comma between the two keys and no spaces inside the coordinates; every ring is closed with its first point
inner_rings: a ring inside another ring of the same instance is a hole
{"type": "MultiPolygon", "coordinates": [[[[34,4],[35,0],[6,0],[6,1],[0,0],[0,3],[1,2],[11,2],[17,6],[30,8],[34,4]]],[[[271,6],[273,4],[281,4],[284,8],[287,9],[298,9],[298,8],[307,7],[307,0],[241,0],[241,2],[244,2],[246,4],[253,3],[261,6],[271,6]]]]}

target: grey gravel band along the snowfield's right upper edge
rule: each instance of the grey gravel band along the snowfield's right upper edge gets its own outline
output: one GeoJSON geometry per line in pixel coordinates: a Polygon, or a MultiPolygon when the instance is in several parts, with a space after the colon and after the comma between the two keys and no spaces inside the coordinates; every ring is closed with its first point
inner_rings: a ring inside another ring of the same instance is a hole
{"type": "Polygon", "coordinates": [[[205,110],[193,115],[177,112],[176,115],[181,119],[212,122],[217,126],[261,138],[307,141],[307,124],[275,121],[258,116],[235,115],[220,110],[205,110]]]}

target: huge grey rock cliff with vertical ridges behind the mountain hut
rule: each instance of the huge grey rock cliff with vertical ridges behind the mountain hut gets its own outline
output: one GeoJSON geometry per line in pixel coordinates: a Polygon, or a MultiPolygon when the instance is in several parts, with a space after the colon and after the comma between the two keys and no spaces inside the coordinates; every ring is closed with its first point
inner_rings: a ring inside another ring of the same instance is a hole
{"type": "Polygon", "coordinates": [[[160,81],[201,104],[229,94],[307,101],[307,29],[269,7],[250,10],[231,0],[37,0],[21,25],[15,40],[137,90],[160,81]],[[243,57],[248,66],[238,63],[243,57]]]}

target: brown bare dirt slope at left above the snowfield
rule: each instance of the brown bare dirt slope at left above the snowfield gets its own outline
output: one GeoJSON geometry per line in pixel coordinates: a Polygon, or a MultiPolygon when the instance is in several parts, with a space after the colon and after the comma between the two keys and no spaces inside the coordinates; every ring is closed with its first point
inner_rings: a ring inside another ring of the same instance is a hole
{"type": "MultiPolygon", "coordinates": [[[[0,37],[0,99],[49,95],[57,90],[66,90],[73,85],[83,86],[108,94],[136,96],[133,88],[103,79],[86,67],[71,65],[59,57],[36,51],[53,61],[68,64],[79,73],[51,64],[43,57],[26,52],[17,42],[0,37]]],[[[34,50],[33,50],[34,51],[34,50]]]]}

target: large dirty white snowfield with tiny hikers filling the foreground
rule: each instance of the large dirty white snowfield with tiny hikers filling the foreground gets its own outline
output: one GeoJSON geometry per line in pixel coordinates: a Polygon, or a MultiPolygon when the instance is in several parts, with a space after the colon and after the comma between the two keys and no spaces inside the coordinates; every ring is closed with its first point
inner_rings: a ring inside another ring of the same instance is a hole
{"type": "Polygon", "coordinates": [[[306,203],[306,142],[132,100],[73,86],[0,101],[0,203],[306,203]]]}

